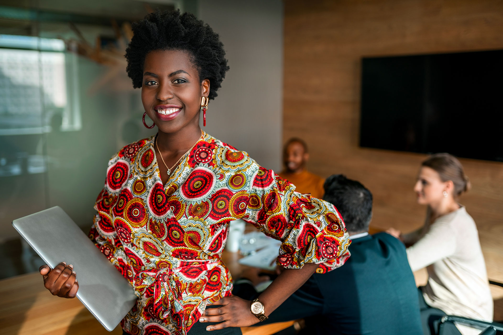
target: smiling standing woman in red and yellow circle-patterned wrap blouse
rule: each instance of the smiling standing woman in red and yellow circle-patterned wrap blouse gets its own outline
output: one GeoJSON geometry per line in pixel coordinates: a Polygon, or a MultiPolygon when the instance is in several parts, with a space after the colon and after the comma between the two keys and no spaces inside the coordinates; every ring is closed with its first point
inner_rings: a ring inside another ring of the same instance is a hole
{"type": "MultiPolygon", "coordinates": [[[[246,152],[200,129],[200,110],[217,96],[228,70],[208,25],[190,14],[154,12],[133,32],[127,71],[158,132],[109,161],[90,238],[139,297],[122,321],[126,334],[240,333],[266,319],[314,271],[344,264],[350,244],[344,222],[333,205],[295,192],[246,152]],[[254,308],[231,295],[221,260],[229,221],[239,218],[282,241],[277,264],[285,271],[254,308]]],[[[40,271],[45,286],[74,297],[70,266],[49,270],[40,271]]]]}

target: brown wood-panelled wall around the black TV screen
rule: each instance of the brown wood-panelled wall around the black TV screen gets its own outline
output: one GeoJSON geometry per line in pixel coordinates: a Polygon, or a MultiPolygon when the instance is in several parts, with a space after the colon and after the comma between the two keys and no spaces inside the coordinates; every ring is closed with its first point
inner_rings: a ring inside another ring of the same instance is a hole
{"type": "MultiPolygon", "coordinates": [[[[426,155],[358,146],[361,59],[503,49],[503,2],[286,0],[284,25],[283,139],[307,141],[313,172],[366,185],[373,226],[421,226],[412,187],[426,155]]],[[[460,201],[477,222],[489,277],[503,281],[503,163],[461,162],[473,188],[460,201]]]]}

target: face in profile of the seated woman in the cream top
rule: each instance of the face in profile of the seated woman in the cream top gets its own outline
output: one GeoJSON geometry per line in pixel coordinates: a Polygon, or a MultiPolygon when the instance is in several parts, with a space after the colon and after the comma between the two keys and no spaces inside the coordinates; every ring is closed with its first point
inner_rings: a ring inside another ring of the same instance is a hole
{"type": "Polygon", "coordinates": [[[443,192],[448,189],[447,182],[443,182],[437,171],[427,166],[422,166],[417,176],[414,191],[417,203],[431,205],[442,201],[443,192]]]}

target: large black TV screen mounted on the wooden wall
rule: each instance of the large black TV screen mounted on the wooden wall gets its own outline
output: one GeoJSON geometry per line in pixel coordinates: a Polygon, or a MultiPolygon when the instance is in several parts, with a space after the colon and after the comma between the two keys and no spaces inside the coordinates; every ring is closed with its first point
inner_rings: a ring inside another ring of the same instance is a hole
{"type": "Polygon", "coordinates": [[[503,161],[503,50],[362,63],[360,146],[503,161]]]}

